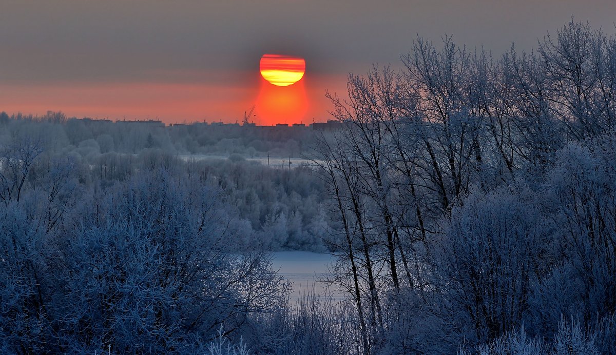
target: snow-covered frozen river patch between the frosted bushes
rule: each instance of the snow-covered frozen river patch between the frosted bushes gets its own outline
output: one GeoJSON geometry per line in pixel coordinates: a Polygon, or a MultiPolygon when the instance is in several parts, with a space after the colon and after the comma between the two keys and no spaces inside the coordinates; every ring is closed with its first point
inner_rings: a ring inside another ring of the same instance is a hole
{"type": "MultiPolygon", "coordinates": [[[[326,294],[326,285],[318,281],[318,277],[328,273],[328,266],[334,262],[332,255],[312,252],[274,252],[273,255],[272,268],[293,282],[292,303],[313,289],[316,295],[326,294]]],[[[340,297],[334,293],[334,299],[336,298],[340,297]]]]}

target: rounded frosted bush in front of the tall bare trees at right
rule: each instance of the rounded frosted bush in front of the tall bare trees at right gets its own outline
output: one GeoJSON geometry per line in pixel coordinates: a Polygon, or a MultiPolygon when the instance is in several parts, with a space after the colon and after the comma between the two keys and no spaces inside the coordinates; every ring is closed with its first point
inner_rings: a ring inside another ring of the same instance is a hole
{"type": "MultiPolygon", "coordinates": [[[[548,229],[530,191],[501,189],[455,207],[434,255],[437,299],[454,332],[489,341],[522,324],[545,273],[548,229]]],[[[443,314],[440,314],[442,317],[443,314]]]]}

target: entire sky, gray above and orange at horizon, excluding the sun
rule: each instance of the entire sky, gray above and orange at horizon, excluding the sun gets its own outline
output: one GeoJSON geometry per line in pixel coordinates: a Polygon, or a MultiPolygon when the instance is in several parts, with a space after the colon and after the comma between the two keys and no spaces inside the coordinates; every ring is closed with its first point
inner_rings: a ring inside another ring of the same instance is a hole
{"type": "Polygon", "coordinates": [[[326,90],[349,73],[399,66],[417,36],[444,34],[498,56],[570,20],[616,33],[614,0],[2,0],[0,111],[166,123],[330,119],[326,90]],[[302,57],[275,87],[264,54],[302,57]]]}

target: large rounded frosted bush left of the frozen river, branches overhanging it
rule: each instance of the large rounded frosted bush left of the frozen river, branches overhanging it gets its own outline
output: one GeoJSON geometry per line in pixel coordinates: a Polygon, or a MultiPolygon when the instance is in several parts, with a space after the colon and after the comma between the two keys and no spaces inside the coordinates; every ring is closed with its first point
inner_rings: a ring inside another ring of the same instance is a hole
{"type": "Polygon", "coordinates": [[[268,259],[229,253],[216,193],[184,186],[164,170],[138,175],[59,241],[53,298],[64,346],[181,353],[221,325],[231,333],[277,310],[283,288],[268,259]]]}

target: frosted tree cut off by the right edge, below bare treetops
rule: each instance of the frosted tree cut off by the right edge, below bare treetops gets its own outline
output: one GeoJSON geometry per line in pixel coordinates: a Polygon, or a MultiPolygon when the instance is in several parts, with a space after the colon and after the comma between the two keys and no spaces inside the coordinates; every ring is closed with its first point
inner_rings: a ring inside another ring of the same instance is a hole
{"type": "Polygon", "coordinates": [[[543,333],[553,333],[562,316],[588,326],[616,309],[614,142],[608,134],[557,154],[545,201],[554,225],[554,267],[532,297],[543,333]]]}

